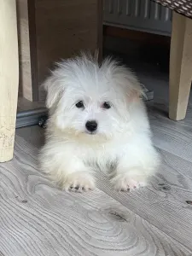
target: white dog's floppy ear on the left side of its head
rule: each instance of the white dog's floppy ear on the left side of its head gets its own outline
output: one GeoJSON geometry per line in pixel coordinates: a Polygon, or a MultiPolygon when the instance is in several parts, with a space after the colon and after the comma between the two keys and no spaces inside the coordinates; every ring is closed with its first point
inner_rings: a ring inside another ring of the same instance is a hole
{"type": "Polygon", "coordinates": [[[61,87],[61,82],[54,75],[50,76],[42,84],[44,90],[47,93],[46,96],[46,107],[51,108],[55,102],[58,102],[64,89],[61,87]]]}

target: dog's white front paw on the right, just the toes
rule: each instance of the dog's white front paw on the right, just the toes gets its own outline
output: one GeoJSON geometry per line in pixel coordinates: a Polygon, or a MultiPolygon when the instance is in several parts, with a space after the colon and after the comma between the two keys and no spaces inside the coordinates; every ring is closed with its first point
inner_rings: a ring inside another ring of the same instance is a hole
{"type": "Polygon", "coordinates": [[[111,183],[113,184],[114,189],[118,191],[130,191],[146,186],[147,180],[145,177],[134,177],[132,175],[124,174],[113,177],[111,183]]]}

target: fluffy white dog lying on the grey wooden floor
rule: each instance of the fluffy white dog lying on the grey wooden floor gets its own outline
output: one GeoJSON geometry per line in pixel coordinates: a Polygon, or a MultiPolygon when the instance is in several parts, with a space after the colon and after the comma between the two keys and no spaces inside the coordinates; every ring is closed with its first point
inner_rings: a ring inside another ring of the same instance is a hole
{"type": "Polygon", "coordinates": [[[96,166],[118,190],[147,183],[159,164],[137,78],[107,59],[81,55],[44,83],[49,108],[41,170],[61,189],[95,188],[96,166]],[[110,169],[110,168],[109,168],[110,169]]]}

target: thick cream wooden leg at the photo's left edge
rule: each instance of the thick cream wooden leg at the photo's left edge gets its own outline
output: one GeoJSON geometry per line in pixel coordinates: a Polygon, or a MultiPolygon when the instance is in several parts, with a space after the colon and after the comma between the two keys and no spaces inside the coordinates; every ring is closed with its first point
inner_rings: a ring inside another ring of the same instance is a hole
{"type": "Polygon", "coordinates": [[[18,84],[15,0],[0,0],[0,162],[13,158],[18,84]]]}

